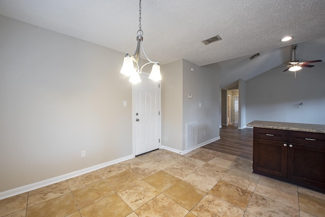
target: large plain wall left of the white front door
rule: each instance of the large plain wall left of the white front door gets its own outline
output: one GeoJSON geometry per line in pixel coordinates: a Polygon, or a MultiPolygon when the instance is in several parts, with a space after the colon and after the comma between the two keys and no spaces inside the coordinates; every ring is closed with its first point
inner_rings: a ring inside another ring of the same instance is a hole
{"type": "Polygon", "coordinates": [[[123,53],[3,16],[0,29],[0,192],[133,154],[123,53]]]}

